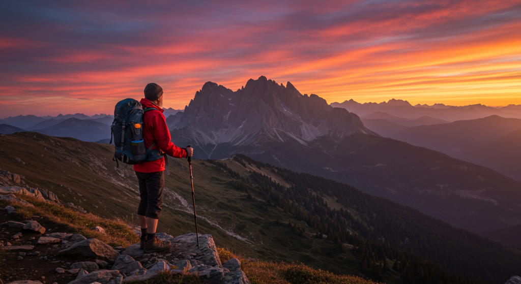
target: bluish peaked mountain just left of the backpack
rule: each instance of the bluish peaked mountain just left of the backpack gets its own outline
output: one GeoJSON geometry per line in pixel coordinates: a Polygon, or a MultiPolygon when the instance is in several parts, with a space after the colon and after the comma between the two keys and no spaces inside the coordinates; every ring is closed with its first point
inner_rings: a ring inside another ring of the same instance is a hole
{"type": "Polygon", "coordinates": [[[110,126],[92,121],[70,118],[36,132],[57,137],[72,137],[88,142],[110,138],[110,126]]]}

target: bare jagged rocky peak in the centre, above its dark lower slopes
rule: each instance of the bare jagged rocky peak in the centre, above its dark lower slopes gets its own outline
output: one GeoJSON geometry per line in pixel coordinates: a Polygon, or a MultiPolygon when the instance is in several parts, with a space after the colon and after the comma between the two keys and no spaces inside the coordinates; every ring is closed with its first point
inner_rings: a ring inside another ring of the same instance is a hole
{"type": "Polygon", "coordinates": [[[239,145],[270,138],[305,143],[332,133],[338,138],[357,131],[371,133],[355,114],[333,109],[317,95],[302,95],[290,82],[284,86],[261,76],[235,92],[205,83],[169,125],[190,128],[201,143],[210,144],[239,145]]]}

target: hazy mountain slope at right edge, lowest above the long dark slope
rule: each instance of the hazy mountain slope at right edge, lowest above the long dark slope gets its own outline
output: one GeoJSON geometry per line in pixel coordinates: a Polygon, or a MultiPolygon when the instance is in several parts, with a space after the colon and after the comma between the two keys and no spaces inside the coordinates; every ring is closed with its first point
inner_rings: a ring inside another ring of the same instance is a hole
{"type": "Polygon", "coordinates": [[[521,182],[521,127],[490,143],[457,153],[454,157],[490,167],[521,182]]]}

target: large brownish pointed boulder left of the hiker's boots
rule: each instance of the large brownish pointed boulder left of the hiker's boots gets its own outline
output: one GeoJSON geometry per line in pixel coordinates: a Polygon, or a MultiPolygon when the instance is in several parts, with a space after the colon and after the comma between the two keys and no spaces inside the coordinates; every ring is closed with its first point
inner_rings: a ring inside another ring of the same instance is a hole
{"type": "Polygon", "coordinates": [[[59,253],[78,257],[92,257],[93,259],[101,259],[109,262],[114,262],[119,256],[117,251],[98,239],[86,239],[77,242],[69,248],[59,251],[59,253]]]}

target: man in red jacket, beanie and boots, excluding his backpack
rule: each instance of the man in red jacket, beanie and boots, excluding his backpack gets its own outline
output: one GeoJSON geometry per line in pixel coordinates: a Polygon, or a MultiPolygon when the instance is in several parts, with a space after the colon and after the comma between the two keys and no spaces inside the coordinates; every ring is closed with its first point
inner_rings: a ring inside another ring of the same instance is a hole
{"type": "MultiPolygon", "coordinates": [[[[163,115],[163,88],[156,83],[146,85],[145,98],[141,99],[143,108],[155,108],[143,114],[146,130],[143,131],[145,147],[154,142],[151,149],[160,149],[174,158],[192,157],[191,147],[179,148],[170,141],[170,132],[163,115]],[[157,111],[156,111],[157,110],[157,111]]],[[[168,159],[166,160],[168,169],[168,159]]],[[[141,201],[139,202],[138,216],[141,225],[141,249],[145,253],[164,251],[170,248],[169,241],[162,241],[156,237],[157,222],[163,205],[163,188],[165,187],[165,159],[142,162],[134,165],[138,176],[141,201]]]]}

